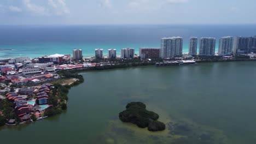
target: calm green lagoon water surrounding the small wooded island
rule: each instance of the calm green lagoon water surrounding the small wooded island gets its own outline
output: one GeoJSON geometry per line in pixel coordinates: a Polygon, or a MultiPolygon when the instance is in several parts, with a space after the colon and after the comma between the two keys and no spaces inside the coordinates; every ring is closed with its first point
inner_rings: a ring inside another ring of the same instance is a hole
{"type": "Polygon", "coordinates": [[[1,143],[218,143],[256,141],[256,62],[133,67],[82,73],[68,110],[0,129],[1,143]],[[149,132],[118,113],[142,101],[167,129],[149,132]],[[173,125],[180,125],[174,129],[173,125]]]}

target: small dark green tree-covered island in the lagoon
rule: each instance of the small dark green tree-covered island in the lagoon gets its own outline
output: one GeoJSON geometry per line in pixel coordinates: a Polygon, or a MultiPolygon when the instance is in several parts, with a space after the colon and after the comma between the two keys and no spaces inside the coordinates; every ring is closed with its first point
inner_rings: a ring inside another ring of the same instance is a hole
{"type": "Polygon", "coordinates": [[[126,105],[126,110],[119,113],[122,122],[136,124],[139,128],[148,127],[149,131],[165,130],[165,124],[157,121],[159,115],[146,110],[146,105],[141,102],[131,102],[126,105]]]}

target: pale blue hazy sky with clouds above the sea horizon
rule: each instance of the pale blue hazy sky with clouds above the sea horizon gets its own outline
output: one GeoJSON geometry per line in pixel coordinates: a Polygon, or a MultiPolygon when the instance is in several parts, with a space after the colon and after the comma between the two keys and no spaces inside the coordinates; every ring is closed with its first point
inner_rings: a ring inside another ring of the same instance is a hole
{"type": "Polygon", "coordinates": [[[254,24],[255,0],[1,0],[0,25],[254,24]]]}

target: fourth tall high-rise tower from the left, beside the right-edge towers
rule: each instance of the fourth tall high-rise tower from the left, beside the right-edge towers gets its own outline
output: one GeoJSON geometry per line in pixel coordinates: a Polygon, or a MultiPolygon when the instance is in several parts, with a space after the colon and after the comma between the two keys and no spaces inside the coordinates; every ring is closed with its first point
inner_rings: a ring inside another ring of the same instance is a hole
{"type": "Polygon", "coordinates": [[[222,37],[219,39],[219,56],[230,55],[233,51],[233,37],[222,37]]]}

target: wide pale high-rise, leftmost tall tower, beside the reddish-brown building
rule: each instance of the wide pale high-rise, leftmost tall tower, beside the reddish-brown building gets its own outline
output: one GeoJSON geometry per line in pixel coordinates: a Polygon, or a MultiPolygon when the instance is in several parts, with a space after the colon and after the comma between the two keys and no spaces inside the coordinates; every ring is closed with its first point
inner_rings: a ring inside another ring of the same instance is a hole
{"type": "Polygon", "coordinates": [[[176,57],[182,56],[183,38],[171,37],[161,39],[161,57],[176,57]]]}

